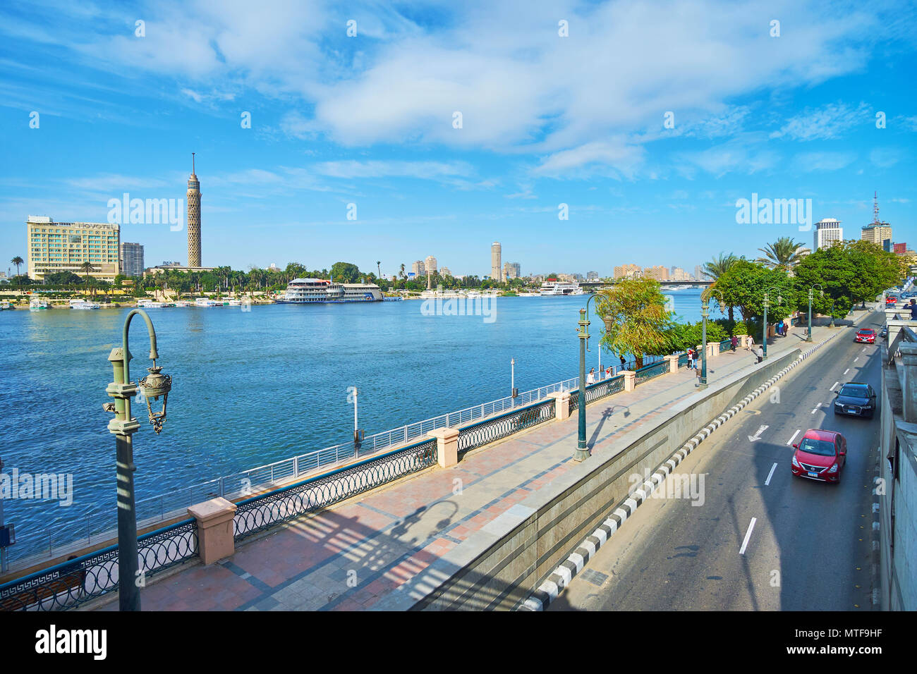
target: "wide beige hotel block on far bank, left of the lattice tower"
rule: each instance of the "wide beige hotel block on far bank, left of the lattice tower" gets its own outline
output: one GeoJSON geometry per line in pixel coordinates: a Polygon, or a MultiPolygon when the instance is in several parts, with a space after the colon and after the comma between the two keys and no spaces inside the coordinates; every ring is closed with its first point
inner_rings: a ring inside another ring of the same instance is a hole
{"type": "Polygon", "coordinates": [[[28,276],[43,281],[46,274],[71,271],[114,281],[120,271],[121,228],[99,222],[54,222],[50,217],[29,215],[26,220],[28,276]]]}

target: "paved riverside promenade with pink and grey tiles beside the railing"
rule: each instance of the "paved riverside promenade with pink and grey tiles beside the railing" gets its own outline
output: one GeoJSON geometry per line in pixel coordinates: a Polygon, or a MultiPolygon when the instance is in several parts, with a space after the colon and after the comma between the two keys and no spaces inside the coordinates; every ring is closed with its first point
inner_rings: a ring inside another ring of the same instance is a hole
{"type": "MultiPolygon", "coordinates": [[[[853,320],[861,318],[857,311],[853,320]]],[[[849,325],[849,324],[848,324],[849,325]]],[[[812,329],[819,342],[845,328],[812,329]]],[[[768,357],[804,344],[805,329],[768,340],[768,357]]],[[[752,368],[747,350],[708,360],[709,381],[752,368]]],[[[697,392],[681,368],[586,409],[587,442],[602,455],[624,434],[653,424],[697,392]]],[[[457,465],[425,470],[315,514],[278,525],[215,564],[199,561],[154,578],[145,611],[359,611],[371,609],[515,503],[564,474],[577,444],[577,417],[554,420],[470,451],[457,465]]],[[[610,504],[611,505],[611,504],[610,504]]],[[[84,610],[116,610],[112,599],[84,610]]],[[[382,602],[379,607],[385,605],[382,602]]]]}

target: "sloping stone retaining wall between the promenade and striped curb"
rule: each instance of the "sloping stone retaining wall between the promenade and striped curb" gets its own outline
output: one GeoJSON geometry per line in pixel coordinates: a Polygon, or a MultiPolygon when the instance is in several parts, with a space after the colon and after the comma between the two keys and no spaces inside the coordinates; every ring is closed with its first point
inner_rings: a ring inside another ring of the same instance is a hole
{"type": "Polygon", "coordinates": [[[703,426],[799,355],[794,349],[768,359],[676,404],[652,429],[622,437],[610,454],[584,461],[514,505],[373,608],[514,608],[624,500],[632,474],[651,474],[703,426]]]}

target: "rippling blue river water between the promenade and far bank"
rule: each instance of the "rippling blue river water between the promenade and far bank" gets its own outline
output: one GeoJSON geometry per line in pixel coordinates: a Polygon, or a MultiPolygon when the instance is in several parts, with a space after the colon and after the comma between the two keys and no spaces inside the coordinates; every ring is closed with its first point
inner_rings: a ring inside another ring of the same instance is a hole
{"type": "MultiPolygon", "coordinates": [[[[676,314],[700,318],[700,289],[671,293],[676,314]]],[[[359,389],[366,435],[575,377],[586,297],[497,298],[493,314],[424,315],[422,301],[150,309],[159,364],[172,375],[160,436],[134,404],[137,498],[287,459],[352,436],[348,387],[359,389]]],[[[4,473],[72,474],[72,505],[6,500],[12,558],[91,514],[115,521],[110,350],[127,309],[0,314],[0,457],[4,473]]],[[[600,321],[593,320],[598,337],[600,321]]],[[[598,366],[598,339],[588,367],[598,366]]],[[[132,379],[149,367],[149,339],[131,324],[132,379]]],[[[616,362],[602,354],[604,363],[616,362]]],[[[57,536],[55,536],[57,538],[57,536]]],[[[57,541],[62,542],[62,541],[57,541]]]]}

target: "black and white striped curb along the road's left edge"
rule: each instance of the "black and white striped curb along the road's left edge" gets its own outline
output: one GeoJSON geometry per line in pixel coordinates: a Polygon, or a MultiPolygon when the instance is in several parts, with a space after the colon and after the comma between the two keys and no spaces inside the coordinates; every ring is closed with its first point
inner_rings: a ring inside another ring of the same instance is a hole
{"type": "MultiPolygon", "coordinates": [[[[693,436],[688,442],[682,445],[681,448],[672,455],[671,459],[668,459],[668,461],[659,466],[656,472],[654,472],[648,480],[641,484],[634,492],[631,492],[624,500],[624,503],[616,508],[602,525],[592,532],[591,536],[587,536],[586,539],[580,543],[580,547],[577,547],[572,554],[570,554],[569,558],[561,562],[560,566],[554,569],[554,572],[548,576],[547,580],[541,583],[538,589],[532,592],[532,595],[528,597],[525,602],[519,604],[516,609],[519,611],[544,611],[550,602],[558,598],[560,591],[569,585],[570,580],[573,580],[573,577],[580,573],[586,566],[586,562],[595,556],[599,548],[611,538],[614,532],[621,528],[621,525],[624,524],[627,518],[634,514],[635,510],[646,501],[649,494],[654,492],[657,486],[668,478],[668,475],[675,470],[675,467],[678,466],[681,461],[687,458],[698,445],[711,436],[713,431],[721,425],[724,425],[726,421],[735,416],[735,414],[741,411],[748,403],[751,403],[761,393],[767,391],[775,381],[778,381],[803,360],[812,356],[815,351],[822,348],[825,344],[834,339],[834,337],[837,337],[838,334],[840,334],[840,331],[835,332],[831,337],[824,339],[814,347],[803,351],[797,359],[790,363],[790,365],[758,386],[753,392],[748,393],[745,398],[735,403],[735,405],[730,407],[723,414],[717,416],[710,424],[704,426],[700,433],[693,436]]],[[[876,525],[874,525],[874,528],[875,527],[876,525]]]]}

